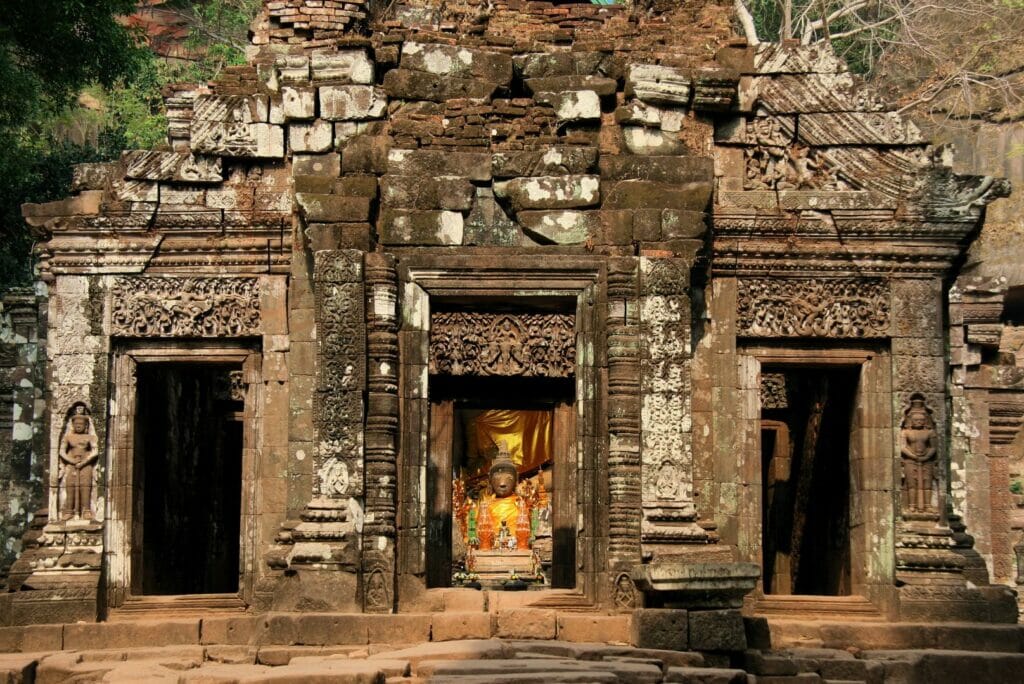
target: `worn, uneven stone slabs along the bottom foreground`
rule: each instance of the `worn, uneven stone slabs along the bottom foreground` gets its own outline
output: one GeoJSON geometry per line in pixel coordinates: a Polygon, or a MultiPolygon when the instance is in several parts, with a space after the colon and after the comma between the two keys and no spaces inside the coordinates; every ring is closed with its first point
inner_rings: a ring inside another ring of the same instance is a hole
{"type": "Polygon", "coordinates": [[[556,640],[479,639],[409,647],[191,644],[0,653],[0,682],[359,684],[925,684],[1019,682],[1024,654],[791,648],[729,656],[556,640]]]}

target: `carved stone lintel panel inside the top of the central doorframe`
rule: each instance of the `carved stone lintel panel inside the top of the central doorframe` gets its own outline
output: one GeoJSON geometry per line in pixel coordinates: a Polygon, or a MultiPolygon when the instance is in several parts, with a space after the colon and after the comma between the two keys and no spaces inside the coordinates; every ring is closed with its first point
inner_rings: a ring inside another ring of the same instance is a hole
{"type": "Polygon", "coordinates": [[[571,314],[438,311],[431,315],[431,373],[565,378],[574,369],[571,314]]]}

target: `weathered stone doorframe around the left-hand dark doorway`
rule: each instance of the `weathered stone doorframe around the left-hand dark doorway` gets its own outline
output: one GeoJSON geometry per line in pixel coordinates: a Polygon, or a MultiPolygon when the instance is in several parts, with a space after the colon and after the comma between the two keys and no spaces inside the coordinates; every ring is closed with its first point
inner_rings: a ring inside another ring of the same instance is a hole
{"type": "MultiPolygon", "coordinates": [[[[150,364],[237,364],[242,367],[244,386],[242,487],[239,546],[239,592],[237,595],[197,595],[196,606],[232,606],[251,602],[254,568],[258,553],[256,490],[259,482],[260,444],[262,443],[263,396],[261,387],[262,356],[258,343],[240,340],[202,341],[126,341],[115,346],[111,373],[111,446],[108,451],[109,473],[104,517],[106,608],[127,607],[150,599],[168,597],[139,596],[132,591],[133,573],[138,571],[137,549],[133,548],[135,467],[135,409],[137,405],[137,369],[150,364]]],[[[193,605],[193,603],[189,603],[193,605]]]]}

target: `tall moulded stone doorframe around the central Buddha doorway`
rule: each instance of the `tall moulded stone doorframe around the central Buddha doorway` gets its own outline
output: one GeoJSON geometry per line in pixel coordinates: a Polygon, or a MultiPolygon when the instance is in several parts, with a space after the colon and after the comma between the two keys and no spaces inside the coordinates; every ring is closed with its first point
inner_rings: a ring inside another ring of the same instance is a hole
{"type": "Polygon", "coordinates": [[[602,412],[601,382],[604,359],[604,319],[599,311],[600,284],[605,265],[598,259],[566,257],[557,267],[539,267],[538,261],[510,256],[490,261],[500,265],[481,267],[479,259],[466,257],[409,257],[400,261],[401,297],[399,331],[401,396],[401,447],[398,487],[399,606],[416,599],[425,589],[426,491],[429,462],[430,407],[428,382],[430,360],[431,302],[440,299],[501,300],[523,303],[532,299],[570,299],[575,314],[575,468],[578,527],[575,590],[566,590],[578,602],[597,600],[597,573],[605,522],[598,502],[606,444],[597,435],[602,412]]]}

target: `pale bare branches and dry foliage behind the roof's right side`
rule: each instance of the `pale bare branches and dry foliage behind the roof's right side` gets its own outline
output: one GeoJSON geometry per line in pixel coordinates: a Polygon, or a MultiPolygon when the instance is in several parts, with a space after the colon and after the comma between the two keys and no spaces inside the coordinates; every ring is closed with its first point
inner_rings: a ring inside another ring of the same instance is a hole
{"type": "Polygon", "coordinates": [[[748,41],[828,43],[904,109],[1024,116],[1024,0],[734,0],[748,41]]]}

